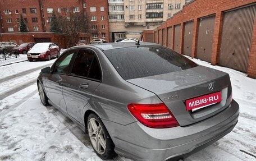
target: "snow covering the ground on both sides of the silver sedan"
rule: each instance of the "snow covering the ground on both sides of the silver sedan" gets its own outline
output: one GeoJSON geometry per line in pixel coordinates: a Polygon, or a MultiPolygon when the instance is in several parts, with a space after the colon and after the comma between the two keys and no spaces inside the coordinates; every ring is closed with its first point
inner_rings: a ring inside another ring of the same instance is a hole
{"type": "MultiPolygon", "coordinates": [[[[21,62],[26,57],[0,61],[0,94],[33,80],[40,70],[15,80],[1,79],[17,75],[30,68],[54,62],[21,62]],[[13,63],[12,65],[6,65],[13,63]]],[[[192,160],[256,160],[256,80],[230,68],[211,66],[208,62],[193,59],[203,66],[230,74],[233,98],[240,105],[239,122],[230,134],[216,143],[186,158],[192,160]]],[[[52,106],[44,107],[35,83],[0,100],[0,160],[102,160],[94,153],[84,134],[70,119],[52,106]]],[[[130,161],[116,157],[116,161],[130,161]]]]}

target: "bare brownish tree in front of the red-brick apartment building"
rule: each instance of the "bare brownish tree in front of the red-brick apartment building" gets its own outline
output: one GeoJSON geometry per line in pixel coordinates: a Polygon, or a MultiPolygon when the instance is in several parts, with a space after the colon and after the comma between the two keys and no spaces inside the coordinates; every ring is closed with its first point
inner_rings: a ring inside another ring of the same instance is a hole
{"type": "Polygon", "coordinates": [[[68,36],[68,47],[74,46],[77,43],[79,33],[89,33],[90,31],[90,24],[86,13],[65,12],[57,17],[62,33],[68,36]]]}

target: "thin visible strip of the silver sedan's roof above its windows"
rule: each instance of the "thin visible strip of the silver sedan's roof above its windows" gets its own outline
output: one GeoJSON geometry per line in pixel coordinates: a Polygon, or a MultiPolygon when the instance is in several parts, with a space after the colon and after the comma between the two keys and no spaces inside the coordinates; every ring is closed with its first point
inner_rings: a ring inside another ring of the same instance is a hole
{"type": "MultiPolygon", "coordinates": [[[[111,49],[118,49],[118,48],[128,48],[128,47],[140,47],[145,45],[159,45],[156,43],[148,43],[148,42],[140,42],[139,44],[136,44],[137,42],[129,42],[129,43],[103,43],[103,44],[89,44],[89,45],[83,45],[83,47],[96,47],[102,51],[104,50],[111,50],[111,49]]],[[[83,47],[71,47],[71,48],[83,48],[83,47]]]]}

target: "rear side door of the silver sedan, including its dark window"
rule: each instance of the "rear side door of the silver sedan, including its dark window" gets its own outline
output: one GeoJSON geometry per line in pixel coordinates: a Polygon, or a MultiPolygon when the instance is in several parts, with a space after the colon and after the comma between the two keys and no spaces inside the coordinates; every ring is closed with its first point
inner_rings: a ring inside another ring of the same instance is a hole
{"type": "Polygon", "coordinates": [[[99,61],[93,50],[80,49],[69,75],[62,77],[63,97],[67,113],[76,121],[83,122],[83,109],[91,102],[93,91],[101,81],[99,61]]]}

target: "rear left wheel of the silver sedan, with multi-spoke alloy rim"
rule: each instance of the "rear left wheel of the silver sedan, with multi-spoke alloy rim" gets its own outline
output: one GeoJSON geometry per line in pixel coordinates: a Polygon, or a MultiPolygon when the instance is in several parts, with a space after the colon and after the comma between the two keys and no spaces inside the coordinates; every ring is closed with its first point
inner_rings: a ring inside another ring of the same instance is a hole
{"type": "Polygon", "coordinates": [[[87,132],[93,150],[101,159],[115,157],[115,145],[103,122],[94,113],[91,113],[87,119],[87,132]]]}

